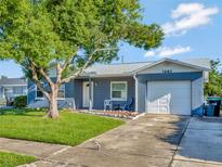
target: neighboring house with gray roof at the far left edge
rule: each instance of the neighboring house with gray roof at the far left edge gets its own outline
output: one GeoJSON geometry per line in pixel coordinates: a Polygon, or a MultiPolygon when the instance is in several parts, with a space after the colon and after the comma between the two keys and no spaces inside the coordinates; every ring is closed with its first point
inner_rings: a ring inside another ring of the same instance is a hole
{"type": "Polygon", "coordinates": [[[27,81],[24,78],[0,78],[0,98],[11,99],[27,94],[27,81]]]}

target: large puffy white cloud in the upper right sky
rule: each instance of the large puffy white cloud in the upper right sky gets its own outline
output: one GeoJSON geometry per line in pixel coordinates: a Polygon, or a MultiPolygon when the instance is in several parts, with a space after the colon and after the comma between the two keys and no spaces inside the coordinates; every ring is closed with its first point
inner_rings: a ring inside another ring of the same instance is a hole
{"type": "Polygon", "coordinates": [[[171,12],[172,22],[162,25],[166,35],[184,35],[187,30],[207,25],[211,16],[219,13],[217,7],[207,8],[201,3],[181,3],[171,12]]]}

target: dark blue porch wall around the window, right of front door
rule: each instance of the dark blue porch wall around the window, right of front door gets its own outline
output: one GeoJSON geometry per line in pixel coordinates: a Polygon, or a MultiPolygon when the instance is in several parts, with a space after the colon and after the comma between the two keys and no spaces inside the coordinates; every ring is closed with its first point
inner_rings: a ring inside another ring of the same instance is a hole
{"type": "MultiPolygon", "coordinates": [[[[115,77],[115,78],[94,78],[93,80],[93,108],[103,110],[104,100],[110,99],[110,81],[127,81],[128,94],[127,99],[135,98],[135,86],[133,77],[115,77]]],[[[114,104],[123,105],[126,101],[114,101],[114,104]]],[[[134,108],[134,104],[133,104],[134,108]]]]}

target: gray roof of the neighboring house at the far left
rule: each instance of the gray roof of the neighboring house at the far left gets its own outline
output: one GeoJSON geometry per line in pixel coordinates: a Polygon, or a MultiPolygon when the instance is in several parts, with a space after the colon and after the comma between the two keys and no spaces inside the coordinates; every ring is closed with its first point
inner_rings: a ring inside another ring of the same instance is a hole
{"type": "Polygon", "coordinates": [[[24,78],[0,78],[0,86],[26,86],[26,79],[24,78]]]}

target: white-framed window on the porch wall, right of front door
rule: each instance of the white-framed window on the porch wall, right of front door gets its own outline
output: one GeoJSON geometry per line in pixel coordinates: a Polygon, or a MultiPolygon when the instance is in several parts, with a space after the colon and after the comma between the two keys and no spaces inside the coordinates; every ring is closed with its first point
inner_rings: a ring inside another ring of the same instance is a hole
{"type": "Polygon", "coordinates": [[[127,100],[127,81],[110,82],[110,99],[120,101],[127,100]]]}

